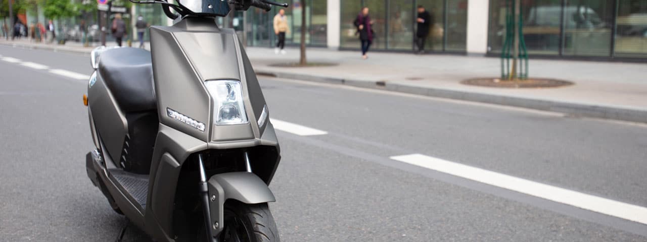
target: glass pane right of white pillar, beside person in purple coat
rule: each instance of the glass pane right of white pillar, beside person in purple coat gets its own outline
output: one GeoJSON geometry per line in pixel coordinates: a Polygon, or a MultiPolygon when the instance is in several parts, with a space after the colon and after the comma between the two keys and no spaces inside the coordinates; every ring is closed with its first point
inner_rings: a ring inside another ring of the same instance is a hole
{"type": "Polygon", "coordinates": [[[341,40],[340,46],[344,48],[359,48],[360,41],[359,35],[355,25],[353,25],[355,18],[360,13],[362,8],[361,0],[344,0],[341,3],[342,7],[342,20],[341,20],[341,40]]]}

